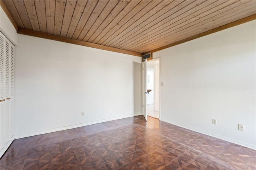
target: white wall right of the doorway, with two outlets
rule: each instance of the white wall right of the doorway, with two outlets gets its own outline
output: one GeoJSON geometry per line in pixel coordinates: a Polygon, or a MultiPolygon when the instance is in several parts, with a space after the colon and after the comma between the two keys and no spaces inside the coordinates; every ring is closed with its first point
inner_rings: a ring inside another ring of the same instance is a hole
{"type": "Polygon", "coordinates": [[[255,20],[153,56],[161,57],[162,121],[256,149],[255,20]]]}

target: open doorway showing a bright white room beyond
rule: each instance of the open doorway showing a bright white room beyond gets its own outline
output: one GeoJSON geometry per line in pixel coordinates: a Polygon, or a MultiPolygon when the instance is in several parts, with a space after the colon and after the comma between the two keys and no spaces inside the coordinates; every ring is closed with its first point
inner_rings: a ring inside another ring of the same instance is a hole
{"type": "Polygon", "coordinates": [[[160,119],[160,59],[148,61],[147,90],[147,114],[160,119]]]}

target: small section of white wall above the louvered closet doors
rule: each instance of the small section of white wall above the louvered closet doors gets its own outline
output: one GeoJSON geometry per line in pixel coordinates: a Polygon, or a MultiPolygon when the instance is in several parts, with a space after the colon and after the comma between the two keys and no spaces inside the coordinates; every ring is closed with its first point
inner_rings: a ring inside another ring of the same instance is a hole
{"type": "Polygon", "coordinates": [[[6,16],[4,10],[0,6],[0,31],[9,39],[14,45],[18,43],[18,34],[12,25],[9,18],[6,16]]]}

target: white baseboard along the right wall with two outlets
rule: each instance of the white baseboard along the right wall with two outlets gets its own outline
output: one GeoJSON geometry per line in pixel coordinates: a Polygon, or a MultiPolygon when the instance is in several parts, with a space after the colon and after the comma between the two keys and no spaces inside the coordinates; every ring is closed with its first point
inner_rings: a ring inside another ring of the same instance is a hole
{"type": "MultiPolygon", "coordinates": [[[[161,120],[161,121],[163,121],[163,120],[161,120]]],[[[170,123],[168,121],[164,121],[164,122],[170,123]]],[[[252,145],[250,143],[245,143],[245,142],[242,142],[242,141],[237,141],[235,139],[231,139],[231,138],[228,138],[228,137],[220,136],[220,135],[214,134],[214,133],[209,133],[209,132],[206,132],[206,131],[201,131],[201,130],[198,130],[198,129],[190,129],[190,128],[184,127],[183,125],[179,125],[179,124],[175,124],[175,123],[170,123],[170,124],[176,125],[178,127],[182,127],[182,128],[185,128],[185,129],[188,129],[188,130],[191,130],[191,131],[195,131],[195,132],[198,132],[198,133],[202,133],[204,135],[215,137],[217,139],[222,139],[224,141],[228,141],[230,143],[241,145],[241,146],[246,147],[246,148],[250,148],[250,149],[256,150],[256,145],[252,145]]]]}

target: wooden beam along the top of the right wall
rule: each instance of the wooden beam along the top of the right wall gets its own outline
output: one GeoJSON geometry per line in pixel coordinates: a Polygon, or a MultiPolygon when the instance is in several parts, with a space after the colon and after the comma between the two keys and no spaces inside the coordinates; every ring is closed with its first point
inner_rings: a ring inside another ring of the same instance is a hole
{"type": "MultiPolygon", "coordinates": [[[[237,20],[237,21],[234,21],[234,22],[231,22],[231,23],[222,25],[222,26],[220,26],[220,27],[211,29],[211,30],[209,30],[209,31],[205,31],[205,32],[203,32],[203,33],[194,35],[194,36],[192,36],[192,37],[188,37],[188,38],[183,39],[183,40],[181,40],[181,41],[177,41],[177,42],[175,42],[175,43],[171,43],[171,44],[169,44],[169,45],[165,45],[165,46],[163,46],[163,47],[154,49],[154,50],[152,50],[152,51],[148,51],[148,52],[146,52],[146,53],[144,53],[144,54],[154,53],[154,52],[157,52],[157,51],[161,51],[161,50],[163,50],[163,49],[167,49],[167,48],[173,47],[173,46],[175,46],[175,45],[179,45],[179,44],[182,44],[182,43],[186,43],[186,42],[191,41],[191,40],[193,40],[193,39],[197,39],[197,38],[200,38],[200,37],[204,37],[204,36],[206,36],[206,35],[210,35],[210,34],[212,34],[212,33],[216,33],[216,32],[218,32],[218,31],[222,31],[222,30],[224,30],[224,29],[228,29],[228,28],[231,28],[231,27],[234,27],[234,26],[237,26],[237,25],[240,25],[240,24],[242,24],[242,23],[249,22],[249,21],[253,21],[253,20],[256,20],[256,14],[254,14],[254,15],[252,15],[252,16],[248,16],[248,17],[243,18],[243,19],[241,19],[241,20],[237,20]]],[[[144,55],[144,54],[143,54],[143,55],[144,55]]]]}

